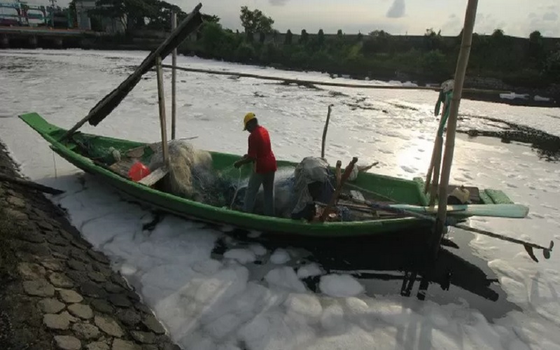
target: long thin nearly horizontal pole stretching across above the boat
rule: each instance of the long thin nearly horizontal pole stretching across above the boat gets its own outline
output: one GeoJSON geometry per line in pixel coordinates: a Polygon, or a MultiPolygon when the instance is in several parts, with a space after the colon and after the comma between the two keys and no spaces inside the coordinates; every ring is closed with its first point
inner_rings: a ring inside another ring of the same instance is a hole
{"type": "MultiPolygon", "coordinates": [[[[217,76],[238,76],[243,78],[256,78],[260,80],[275,80],[282,81],[288,84],[300,84],[300,85],[322,85],[322,86],[337,86],[337,87],[353,87],[358,89],[385,89],[385,90],[432,90],[439,92],[440,87],[437,86],[396,86],[396,85],[372,85],[372,84],[346,84],[346,83],[329,83],[328,81],[316,81],[316,80],[299,80],[299,79],[288,79],[280,78],[277,76],[260,76],[258,74],[251,73],[238,73],[231,71],[213,71],[211,69],[198,69],[198,68],[186,68],[181,66],[171,66],[169,64],[164,64],[163,68],[179,69],[179,71],[191,71],[195,73],[207,73],[216,74],[217,76]]],[[[465,89],[465,92],[477,92],[481,94],[507,94],[509,90],[483,90],[483,89],[465,89]]]]}

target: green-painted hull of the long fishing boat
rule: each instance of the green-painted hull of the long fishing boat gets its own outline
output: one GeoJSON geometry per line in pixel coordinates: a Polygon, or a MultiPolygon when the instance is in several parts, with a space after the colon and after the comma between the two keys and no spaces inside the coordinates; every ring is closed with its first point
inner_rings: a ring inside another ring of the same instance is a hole
{"type": "MultiPolygon", "coordinates": [[[[90,158],[78,153],[78,145],[72,140],[58,140],[66,130],[52,125],[37,113],[27,113],[20,116],[31,128],[36,130],[50,144],[50,148],[62,158],[75,165],[84,172],[93,174],[105,183],[117,190],[133,197],[143,204],[166,211],[183,218],[216,223],[220,225],[232,225],[246,230],[258,230],[275,234],[304,235],[311,237],[355,237],[365,235],[379,235],[390,232],[406,232],[430,228],[430,221],[419,218],[383,218],[370,221],[349,222],[327,222],[308,223],[296,221],[289,218],[273,218],[257,214],[248,214],[227,208],[213,207],[208,204],[195,202],[183,197],[149,188],[134,181],[125,179],[123,176],[111,172],[110,169],[95,164],[90,158]]],[[[100,148],[116,148],[124,153],[132,148],[145,146],[146,143],[123,139],[102,137],[93,134],[78,134],[80,138],[87,139],[100,148]]],[[[239,159],[239,155],[210,152],[214,169],[221,172],[231,172],[232,164],[239,159]]],[[[293,168],[296,162],[279,161],[278,167],[293,168]]],[[[246,167],[248,168],[248,167],[246,167]]],[[[248,176],[250,169],[243,169],[242,176],[248,176]]],[[[236,173],[238,174],[238,173],[236,173]]],[[[373,191],[381,196],[401,204],[412,204],[415,206],[428,205],[429,197],[423,194],[423,181],[419,178],[414,180],[399,179],[392,176],[384,176],[372,173],[360,173],[353,181],[353,186],[366,191],[373,191]]],[[[482,204],[512,203],[507,196],[499,190],[480,191],[482,204]],[[484,194],[484,195],[482,195],[484,194]]]]}

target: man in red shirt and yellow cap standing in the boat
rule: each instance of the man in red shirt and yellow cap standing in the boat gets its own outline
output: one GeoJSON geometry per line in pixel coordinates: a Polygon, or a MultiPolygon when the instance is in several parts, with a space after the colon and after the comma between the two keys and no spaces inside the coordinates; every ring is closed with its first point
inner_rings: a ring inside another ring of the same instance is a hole
{"type": "Polygon", "coordinates": [[[250,134],[248,137],[247,154],[234,163],[234,167],[253,162],[253,172],[249,178],[245,193],[244,211],[252,213],[255,207],[258,190],[262,184],[264,192],[264,214],[274,216],[274,174],[276,173],[276,158],[272,153],[268,130],[258,124],[255,113],[247,113],[244,129],[250,134]]]}

